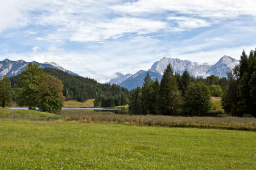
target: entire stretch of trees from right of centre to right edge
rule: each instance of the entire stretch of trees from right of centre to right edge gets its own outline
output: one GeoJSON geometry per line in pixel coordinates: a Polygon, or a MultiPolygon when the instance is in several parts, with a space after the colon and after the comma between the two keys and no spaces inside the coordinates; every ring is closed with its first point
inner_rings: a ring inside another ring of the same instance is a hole
{"type": "Polygon", "coordinates": [[[130,97],[130,108],[147,114],[171,115],[181,111],[200,116],[212,108],[211,96],[220,96],[225,113],[232,116],[256,116],[256,49],[249,56],[243,50],[239,65],[228,73],[228,79],[218,76],[194,78],[185,70],[174,73],[169,64],[159,83],[144,78],[142,87],[135,88],[130,97]]]}

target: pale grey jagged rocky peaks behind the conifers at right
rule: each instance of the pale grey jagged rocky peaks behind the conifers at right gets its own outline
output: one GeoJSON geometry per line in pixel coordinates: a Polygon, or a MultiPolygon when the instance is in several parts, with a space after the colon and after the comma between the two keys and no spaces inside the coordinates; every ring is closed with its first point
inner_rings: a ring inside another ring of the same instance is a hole
{"type": "Polygon", "coordinates": [[[190,75],[195,77],[202,76],[203,78],[206,78],[210,75],[216,75],[222,78],[224,76],[226,77],[226,72],[238,65],[239,61],[232,57],[224,56],[214,65],[209,65],[208,63],[203,63],[203,65],[199,65],[196,62],[192,63],[188,60],[164,57],[160,61],[156,61],[151,66],[151,69],[149,69],[148,71],[156,70],[159,73],[163,74],[169,63],[171,63],[174,72],[178,72],[180,74],[187,70],[190,75]]]}

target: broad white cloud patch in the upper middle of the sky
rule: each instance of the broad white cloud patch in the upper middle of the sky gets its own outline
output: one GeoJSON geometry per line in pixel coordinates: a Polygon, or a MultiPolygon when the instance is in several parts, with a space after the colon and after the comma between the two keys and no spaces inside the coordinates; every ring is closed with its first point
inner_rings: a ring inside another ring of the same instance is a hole
{"type": "Polygon", "coordinates": [[[72,34],[71,41],[102,41],[117,39],[126,33],[147,33],[158,32],[166,28],[167,24],[160,21],[139,19],[139,18],[115,18],[106,22],[83,25],[72,34]]]}

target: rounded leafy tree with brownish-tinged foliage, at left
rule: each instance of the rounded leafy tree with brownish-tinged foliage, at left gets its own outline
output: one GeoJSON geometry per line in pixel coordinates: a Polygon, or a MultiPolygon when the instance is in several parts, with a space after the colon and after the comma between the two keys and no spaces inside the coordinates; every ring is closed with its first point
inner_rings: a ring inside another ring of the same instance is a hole
{"type": "Polygon", "coordinates": [[[38,94],[36,94],[39,110],[49,113],[60,111],[65,101],[62,90],[61,80],[52,75],[46,75],[38,87],[38,94]]]}

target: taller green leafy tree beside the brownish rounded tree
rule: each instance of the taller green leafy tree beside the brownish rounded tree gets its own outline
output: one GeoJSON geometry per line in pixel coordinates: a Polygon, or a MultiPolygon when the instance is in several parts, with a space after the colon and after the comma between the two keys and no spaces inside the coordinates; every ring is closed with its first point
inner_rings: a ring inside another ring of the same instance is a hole
{"type": "Polygon", "coordinates": [[[26,69],[21,71],[20,78],[17,79],[15,86],[18,87],[16,91],[16,104],[18,106],[27,106],[28,109],[36,107],[38,104],[38,99],[36,98],[38,86],[43,81],[45,75],[42,67],[35,63],[29,63],[26,69]]]}

